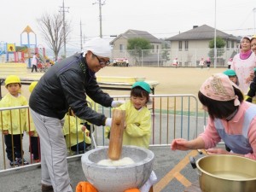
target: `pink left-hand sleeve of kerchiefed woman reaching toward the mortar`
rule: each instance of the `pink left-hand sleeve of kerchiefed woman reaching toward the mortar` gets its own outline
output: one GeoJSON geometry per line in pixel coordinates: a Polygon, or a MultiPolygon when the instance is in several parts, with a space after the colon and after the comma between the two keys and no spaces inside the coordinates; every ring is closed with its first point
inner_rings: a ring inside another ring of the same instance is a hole
{"type": "Polygon", "coordinates": [[[214,148],[217,143],[221,141],[218,136],[218,131],[216,130],[212,118],[208,118],[208,124],[203,133],[199,135],[205,143],[205,148],[214,148]]]}

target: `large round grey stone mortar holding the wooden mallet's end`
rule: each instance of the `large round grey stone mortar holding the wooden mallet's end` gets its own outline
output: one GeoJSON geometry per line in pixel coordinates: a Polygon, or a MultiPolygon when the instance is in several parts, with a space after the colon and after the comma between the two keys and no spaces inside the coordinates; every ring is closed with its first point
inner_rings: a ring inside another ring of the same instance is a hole
{"type": "Polygon", "coordinates": [[[124,157],[130,157],[135,163],[126,166],[101,166],[97,162],[108,159],[108,147],[86,152],[81,160],[87,181],[99,192],[124,192],[125,189],[140,188],[152,172],[154,153],[147,148],[123,146],[121,158],[124,157]]]}

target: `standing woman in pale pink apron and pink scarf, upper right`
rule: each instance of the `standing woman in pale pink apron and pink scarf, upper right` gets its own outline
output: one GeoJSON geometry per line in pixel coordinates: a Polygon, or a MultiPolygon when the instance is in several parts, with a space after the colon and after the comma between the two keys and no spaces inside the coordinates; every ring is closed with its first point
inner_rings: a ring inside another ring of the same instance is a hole
{"type": "Polygon", "coordinates": [[[243,37],[240,43],[240,53],[234,56],[231,69],[236,72],[239,88],[247,93],[253,80],[253,68],[256,67],[256,55],[251,50],[251,38],[243,37]]]}

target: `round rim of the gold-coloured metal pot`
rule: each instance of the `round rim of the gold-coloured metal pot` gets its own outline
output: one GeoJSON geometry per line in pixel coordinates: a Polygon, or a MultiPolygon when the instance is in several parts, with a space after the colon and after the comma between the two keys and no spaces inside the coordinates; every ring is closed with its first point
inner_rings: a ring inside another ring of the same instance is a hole
{"type": "Polygon", "coordinates": [[[223,180],[227,180],[227,181],[237,181],[237,182],[248,182],[248,181],[255,181],[256,180],[256,177],[252,177],[252,178],[241,178],[241,179],[237,179],[237,178],[224,178],[224,177],[218,177],[210,172],[206,172],[205,170],[203,170],[200,166],[199,166],[199,162],[203,159],[206,159],[206,158],[211,158],[211,157],[223,157],[223,156],[228,156],[228,157],[232,157],[232,158],[241,158],[241,159],[244,159],[244,160],[249,160],[249,161],[253,161],[256,163],[256,160],[252,160],[252,159],[249,159],[247,157],[241,157],[241,156],[237,156],[237,155],[232,155],[232,154],[211,154],[211,155],[206,155],[206,156],[203,156],[201,157],[200,159],[196,160],[195,164],[196,164],[196,167],[197,169],[200,171],[200,172],[203,172],[205,173],[206,175],[208,176],[211,176],[211,177],[215,177],[215,178],[218,178],[218,179],[223,179],[223,180]]]}

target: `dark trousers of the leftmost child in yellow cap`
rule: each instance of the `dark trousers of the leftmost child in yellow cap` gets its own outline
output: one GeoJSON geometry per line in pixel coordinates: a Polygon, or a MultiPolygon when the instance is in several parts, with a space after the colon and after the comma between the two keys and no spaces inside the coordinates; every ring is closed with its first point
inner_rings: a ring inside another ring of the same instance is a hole
{"type": "Polygon", "coordinates": [[[20,135],[4,135],[4,143],[6,145],[7,158],[14,161],[15,158],[21,158],[23,151],[21,151],[23,134],[20,135]]]}

